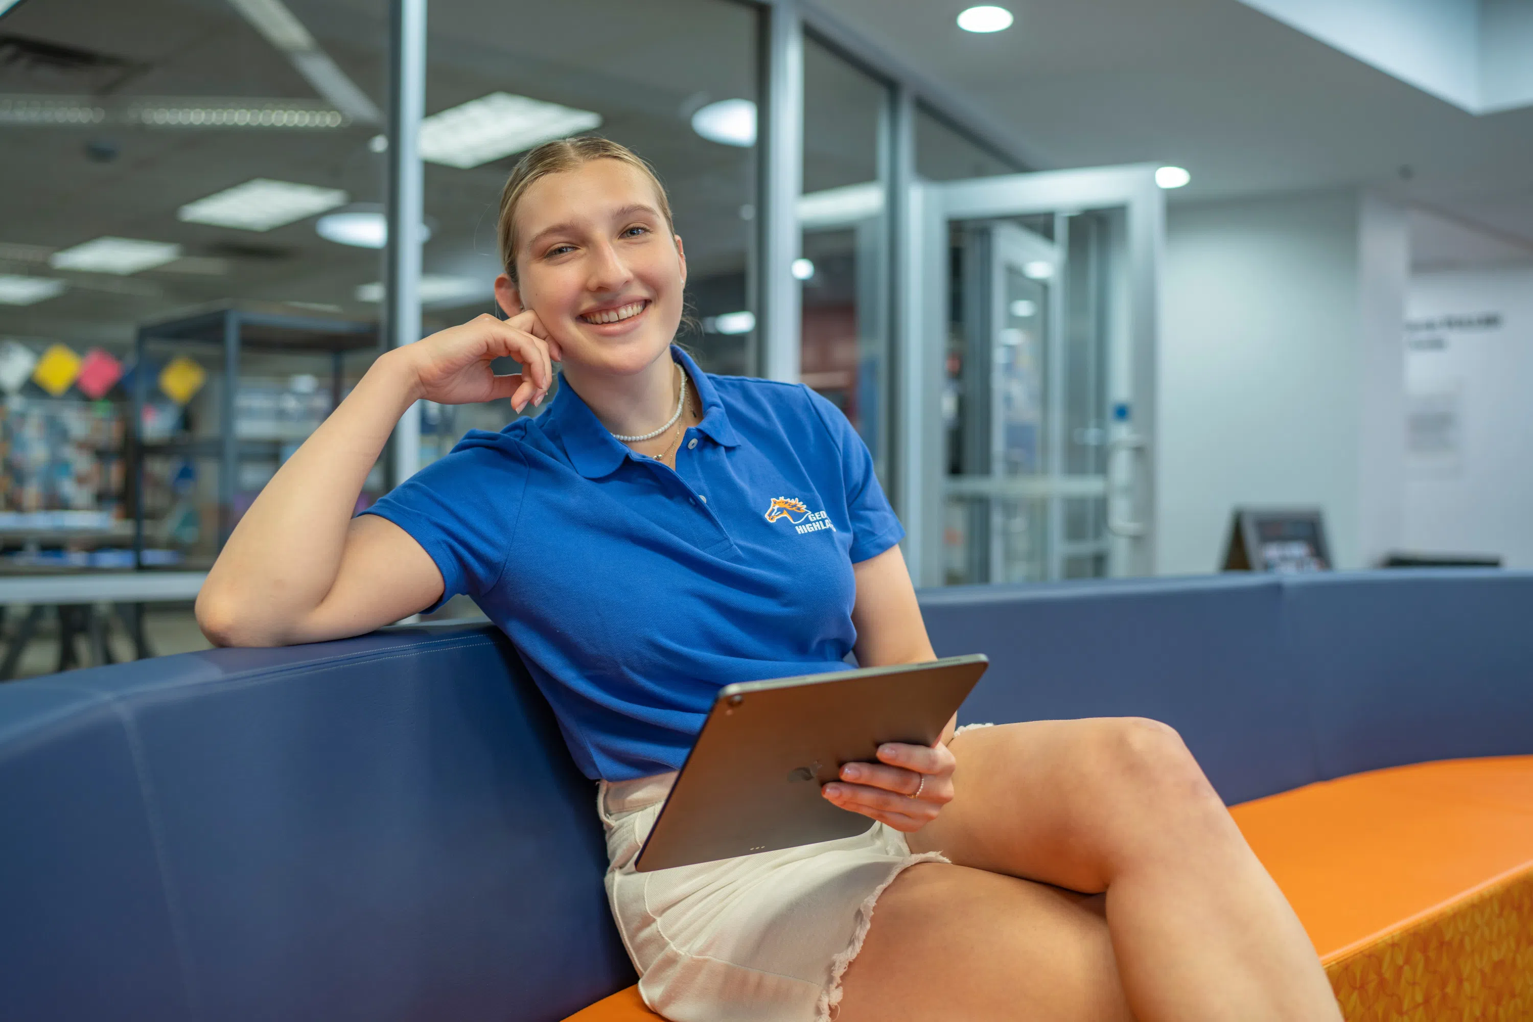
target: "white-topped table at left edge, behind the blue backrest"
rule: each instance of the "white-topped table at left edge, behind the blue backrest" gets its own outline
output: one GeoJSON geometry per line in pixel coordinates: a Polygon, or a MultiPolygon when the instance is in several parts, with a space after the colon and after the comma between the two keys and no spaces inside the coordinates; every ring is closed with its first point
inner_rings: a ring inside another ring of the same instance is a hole
{"type": "Polygon", "coordinates": [[[144,634],[144,604],[184,602],[196,599],[207,572],[58,572],[55,575],[0,575],[0,619],[9,607],[31,610],[17,627],[0,662],[0,682],[15,674],[26,645],[37,634],[37,625],[49,608],[58,613],[58,670],[77,667],[75,636],[90,639],[92,659],[112,663],[107,644],[110,611],[133,640],[136,657],[153,656],[144,634]],[[101,613],[100,605],[109,605],[101,613]]]}

